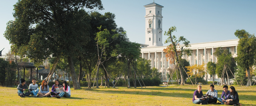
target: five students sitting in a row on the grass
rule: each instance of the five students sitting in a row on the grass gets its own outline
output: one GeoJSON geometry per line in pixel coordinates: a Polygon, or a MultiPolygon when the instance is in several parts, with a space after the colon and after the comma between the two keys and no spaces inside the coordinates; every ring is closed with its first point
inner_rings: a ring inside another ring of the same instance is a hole
{"type": "Polygon", "coordinates": [[[38,85],[36,84],[36,79],[32,79],[32,84],[29,85],[29,88],[27,88],[26,80],[20,79],[20,84],[18,85],[18,95],[20,97],[26,97],[26,96],[34,96],[34,97],[56,97],[56,98],[69,98],[71,96],[71,90],[68,86],[67,82],[63,82],[63,91],[62,92],[56,92],[55,87],[61,86],[59,80],[55,80],[55,84],[52,86],[51,92],[49,92],[49,86],[46,82],[46,80],[43,80],[42,85],[40,85],[40,92],[38,89],[38,85]]]}

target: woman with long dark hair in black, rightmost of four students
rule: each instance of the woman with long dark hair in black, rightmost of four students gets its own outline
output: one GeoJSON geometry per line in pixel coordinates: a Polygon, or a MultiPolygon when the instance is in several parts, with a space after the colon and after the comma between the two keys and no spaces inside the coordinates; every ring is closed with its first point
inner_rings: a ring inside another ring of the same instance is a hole
{"type": "Polygon", "coordinates": [[[225,105],[233,105],[237,106],[242,104],[239,103],[238,93],[236,92],[235,87],[230,86],[230,96],[227,99],[227,102],[224,103],[225,105]]]}

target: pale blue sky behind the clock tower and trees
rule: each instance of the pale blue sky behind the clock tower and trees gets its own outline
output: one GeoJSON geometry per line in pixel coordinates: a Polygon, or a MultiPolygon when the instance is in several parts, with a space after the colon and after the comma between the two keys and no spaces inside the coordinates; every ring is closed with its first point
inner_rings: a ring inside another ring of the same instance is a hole
{"type": "MultiPolygon", "coordinates": [[[[13,18],[13,5],[18,0],[3,0],[0,4],[0,49],[10,50],[4,37],[6,23],[13,18]]],[[[105,12],[114,13],[118,27],[127,31],[131,42],[145,43],[145,7],[153,0],[102,0],[105,12]]],[[[162,8],[163,31],[176,26],[176,36],[191,43],[237,39],[237,29],[256,34],[256,0],[155,0],[162,8]]],[[[167,36],[163,35],[165,41],[167,36]]],[[[164,44],[167,45],[167,44],[164,44]]]]}

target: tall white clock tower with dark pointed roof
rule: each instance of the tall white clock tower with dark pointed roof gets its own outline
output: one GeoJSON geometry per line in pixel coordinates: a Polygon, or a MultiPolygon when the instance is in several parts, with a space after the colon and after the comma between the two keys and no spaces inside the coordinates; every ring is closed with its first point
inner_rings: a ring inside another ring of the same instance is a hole
{"type": "Polygon", "coordinates": [[[148,47],[163,46],[162,37],[162,8],[163,6],[152,2],[144,6],[146,9],[145,15],[145,44],[148,47]]]}

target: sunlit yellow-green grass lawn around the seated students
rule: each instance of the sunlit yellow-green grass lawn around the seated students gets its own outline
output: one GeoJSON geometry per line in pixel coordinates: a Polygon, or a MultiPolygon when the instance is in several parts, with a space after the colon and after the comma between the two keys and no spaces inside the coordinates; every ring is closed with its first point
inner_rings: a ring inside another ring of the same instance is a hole
{"type": "MultiPolygon", "coordinates": [[[[242,106],[256,106],[256,86],[234,86],[239,95],[242,106]]],[[[51,88],[50,88],[51,89],[51,88]]],[[[147,86],[141,89],[127,87],[87,89],[80,90],[71,88],[70,98],[52,98],[33,96],[21,98],[17,94],[17,87],[0,86],[0,106],[196,106],[192,103],[193,93],[197,86],[193,85],[170,85],[147,86]]],[[[202,85],[202,92],[205,94],[210,89],[210,85],[202,85]]],[[[220,97],[222,87],[215,86],[220,97]]],[[[216,106],[209,104],[205,106],[216,106]]],[[[199,105],[198,105],[199,106],[199,105]]],[[[223,106],[223,105],[220,105],[223,106]]]]}

